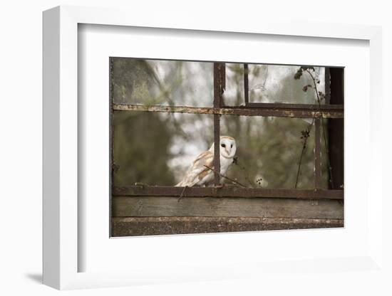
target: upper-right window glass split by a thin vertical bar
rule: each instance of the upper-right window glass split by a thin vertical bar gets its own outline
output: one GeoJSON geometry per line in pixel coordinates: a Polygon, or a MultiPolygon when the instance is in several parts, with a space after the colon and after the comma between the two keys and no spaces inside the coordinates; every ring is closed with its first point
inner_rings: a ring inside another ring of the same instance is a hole
{"type": "MultiPolygon", "coordinates": [[[[248,65],[249,102],[318,104],[317,93],[325,94],[325,68],[303,70],[299,65],[248,65]],[[314,70],[313,70],[314,69],[314,70]]],[[[244,64],[226,64],[225,105],[244,105],[244,64]]],[[[324,96],[319,94],[321,104],[324,96]]]]}

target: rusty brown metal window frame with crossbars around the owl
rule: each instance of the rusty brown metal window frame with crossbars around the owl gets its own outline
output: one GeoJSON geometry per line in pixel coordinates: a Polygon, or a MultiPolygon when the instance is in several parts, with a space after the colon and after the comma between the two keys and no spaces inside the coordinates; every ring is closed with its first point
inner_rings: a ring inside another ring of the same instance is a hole
{"type": "MultiPolygon", "coordinates": [[[[110,69],[113,71],[110,59],[110,69]]],[[[162,106],[140,104],[115,104],[113,102],[113,77],[110,79],[110,142],[113,145],[113,111],[178,112],[214,115],[214,187],[175,187],[175,186],[114,186],[113,147],[110,155],[112,196],[180,196],[182,197],[237,197],[237,198],[292,198],[292,199],[344,199],[343,189],[320,189],[321,182],[321,120],[343,119],[343,105],[329,105],[331,98],[330,70],[326,68],[326,104],[292,104],[249,102],[248,64],[244,63],[244,105],[225,106],[222,94],[226,83],[225,63],[214,63],[214,100],[213,107],[162,106]],[[313,118],[315,127],[314,146],[314,189],[254,189],[242,187],[220,188],[220,116],[262,116],[313,118]]],[[[340,128],[340,127],[338,127],[340,128]]]]}

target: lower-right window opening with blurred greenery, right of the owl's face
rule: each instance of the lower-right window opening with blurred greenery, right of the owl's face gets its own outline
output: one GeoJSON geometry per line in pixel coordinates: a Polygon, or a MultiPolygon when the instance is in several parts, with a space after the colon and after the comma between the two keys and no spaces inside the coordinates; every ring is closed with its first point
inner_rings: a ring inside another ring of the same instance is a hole
{"type": "MultiPolygon", "coordinates": [[[[237,164],[230,166],[227,176],[247,187],[294,189],[304,142],[301,131],[309,128],[309,122],[311,119],[222,116],[221,134],[234,137],[237,143],[237,164]]],[[[321,188],[326,189],[324,140],[321,144],[321,188]]],[[[297,188],[314,189],[314,127],[304,150],[297,188]]]]}

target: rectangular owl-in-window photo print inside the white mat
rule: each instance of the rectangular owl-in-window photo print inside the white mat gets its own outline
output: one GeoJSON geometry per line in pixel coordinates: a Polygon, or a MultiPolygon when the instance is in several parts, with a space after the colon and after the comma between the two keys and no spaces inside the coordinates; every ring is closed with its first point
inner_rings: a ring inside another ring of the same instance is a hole
{"type": "Polygon", "coordinates": [[[109,63],[112,236],[344,226],[344,68],[109,63]]]}

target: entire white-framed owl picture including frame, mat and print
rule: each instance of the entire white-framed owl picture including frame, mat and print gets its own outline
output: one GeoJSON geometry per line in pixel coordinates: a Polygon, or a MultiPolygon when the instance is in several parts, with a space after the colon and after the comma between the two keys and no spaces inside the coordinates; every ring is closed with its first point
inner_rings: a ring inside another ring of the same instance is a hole
{"type": "Polygon", "coordinates": [[[372,26],[45,11],[43,282],[383,273],[380,51],[372,26]]]}

